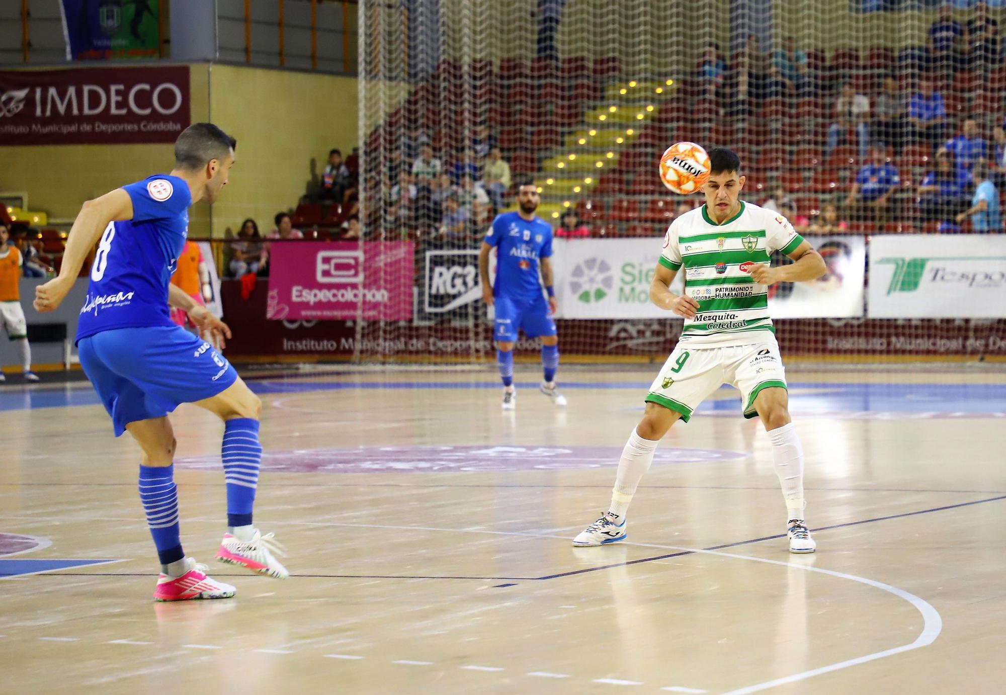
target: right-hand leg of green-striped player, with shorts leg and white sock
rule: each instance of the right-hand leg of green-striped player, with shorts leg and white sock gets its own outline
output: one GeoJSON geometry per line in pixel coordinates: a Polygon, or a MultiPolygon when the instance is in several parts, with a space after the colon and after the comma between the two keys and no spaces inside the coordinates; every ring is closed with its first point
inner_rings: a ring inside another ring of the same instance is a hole
{"type": "Polygon", "coordinates": [[[804,450],[790,417],[786,370],[779,347],[766,343],[743,350],[732,383],[740,390],[744,417],[760,416],[772,442],[776,476],[786,501],[790,551],[814,552],[816,543],[804,515],[804,450]]]}

